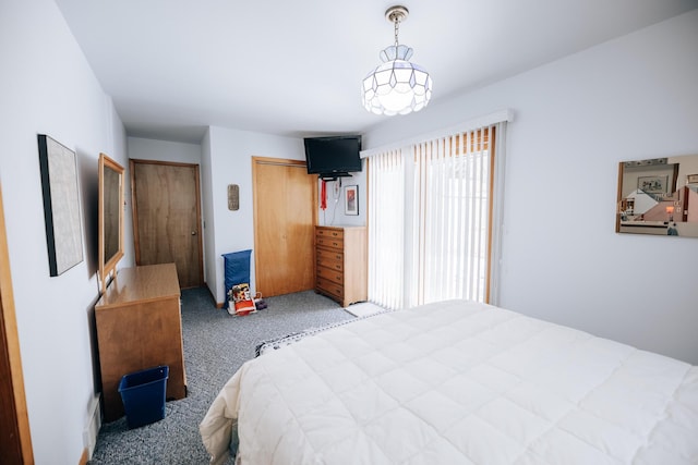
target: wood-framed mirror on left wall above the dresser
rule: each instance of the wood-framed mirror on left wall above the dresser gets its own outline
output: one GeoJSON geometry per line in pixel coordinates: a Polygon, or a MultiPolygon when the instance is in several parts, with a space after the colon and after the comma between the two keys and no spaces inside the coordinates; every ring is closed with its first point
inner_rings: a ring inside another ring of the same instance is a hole
{"type": "Polygon", "coordinates": [[[99,281],[107,291],[107,278],[116,276],[123,257],[123,167],[99,154],[99,281]]]}

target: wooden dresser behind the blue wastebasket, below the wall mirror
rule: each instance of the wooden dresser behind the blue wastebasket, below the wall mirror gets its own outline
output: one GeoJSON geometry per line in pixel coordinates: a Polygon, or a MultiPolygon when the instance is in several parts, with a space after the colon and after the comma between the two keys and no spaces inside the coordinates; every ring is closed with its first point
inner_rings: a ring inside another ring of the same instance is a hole
{"type": "Polygon", "coordinates": [[[121,377],[169,366],[166,397],[186,396],[180,289],[174,264],[119,271],[95,306],[105,421],[123,416],[121,377]]]}

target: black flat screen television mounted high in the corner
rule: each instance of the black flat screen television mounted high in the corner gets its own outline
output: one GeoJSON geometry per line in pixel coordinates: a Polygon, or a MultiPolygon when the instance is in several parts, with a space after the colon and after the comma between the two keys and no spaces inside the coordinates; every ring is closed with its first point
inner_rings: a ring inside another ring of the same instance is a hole
{"type": "Polygon", "coordinates": [[[308,174],[338,178],[361,171],[360,135],[306,137],[303,142],[308,174]]]}

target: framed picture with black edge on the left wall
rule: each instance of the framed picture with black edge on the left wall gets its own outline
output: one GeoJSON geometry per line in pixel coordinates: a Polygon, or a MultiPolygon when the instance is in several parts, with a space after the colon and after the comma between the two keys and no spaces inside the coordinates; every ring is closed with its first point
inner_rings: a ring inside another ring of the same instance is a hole
{"type": "Polygon", "coordinates": [[[38,145],[48,265],[57,277],[83,260],[75,152],[44,134],[38,145]]]}

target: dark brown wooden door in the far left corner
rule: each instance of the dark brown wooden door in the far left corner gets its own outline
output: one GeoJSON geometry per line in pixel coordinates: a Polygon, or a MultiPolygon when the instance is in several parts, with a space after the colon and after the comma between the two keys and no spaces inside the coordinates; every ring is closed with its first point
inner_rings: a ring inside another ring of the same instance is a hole
{"type": "Polygon", "coordinates": [[[174,264],[182,289],[204,283],[198,166],[131,160],[136,265],[174,264]]]}

